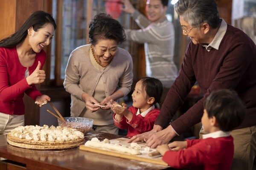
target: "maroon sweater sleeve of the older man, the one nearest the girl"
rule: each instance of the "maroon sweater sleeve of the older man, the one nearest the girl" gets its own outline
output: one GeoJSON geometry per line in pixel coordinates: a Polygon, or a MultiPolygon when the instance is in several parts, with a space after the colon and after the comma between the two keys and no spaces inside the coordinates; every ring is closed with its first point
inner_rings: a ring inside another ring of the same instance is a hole
{"type": "MultiPolygon", "coordinates": [[[[163,128],[169,125],[172,117],[183,104],[186,96],[189,94],[190,89],[195,84],[195,81],[195,74],[193,71],[191,54],[188,46],[178,76],[163,102],[155,125],[160,125],[163,128]]],[[[184,121],[189,120],[182,120],[182,122],[184,121]]],[[[184,123],[182,123],[182,125],[184,125],[184,123]]],[[[174,128],[174,130],[176,131],[177,129],[174,128]]],[[[179,130],[176,132],[181,134],[179,130]]]]}

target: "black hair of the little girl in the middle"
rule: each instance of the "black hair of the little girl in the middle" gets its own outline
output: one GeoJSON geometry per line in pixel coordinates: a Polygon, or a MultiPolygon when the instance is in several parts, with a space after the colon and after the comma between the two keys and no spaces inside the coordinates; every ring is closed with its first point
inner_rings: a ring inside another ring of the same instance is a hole
{"type": "Polygon", "coordinates": [[[148,97],[154,97],[154,103],[160,102],[160,98],[163,93],[163,84],[159,79],[153,77],[143,77],[140,79],[142,82],[142,88],[145,89],[145,92],[148,97]]]}

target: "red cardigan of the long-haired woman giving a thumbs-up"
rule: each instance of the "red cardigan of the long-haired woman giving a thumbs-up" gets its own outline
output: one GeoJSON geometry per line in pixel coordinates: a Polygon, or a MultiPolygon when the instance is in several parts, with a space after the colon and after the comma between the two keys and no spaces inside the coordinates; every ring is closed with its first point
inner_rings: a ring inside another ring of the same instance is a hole
{"type": "MultiPolygon", "coordinates": [[[[34,64],[29,67],[29,74],[35,70],[38,61],[41,67],[46,60],[46,53],[41,50],[36,54],[34,64]]],[[[6,114],[23,115],[24,92],[32,99],[42,95],[35,87],[29,86],[25,78],[26,67],[20,64],[16,47],[0,47],[0,112],[6,114]]]]}

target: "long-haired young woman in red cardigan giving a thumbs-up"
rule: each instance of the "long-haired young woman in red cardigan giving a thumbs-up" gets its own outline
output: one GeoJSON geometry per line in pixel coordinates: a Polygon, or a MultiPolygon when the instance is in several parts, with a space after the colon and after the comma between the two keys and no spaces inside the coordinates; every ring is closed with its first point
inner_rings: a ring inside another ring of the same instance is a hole
{"type": "Polygon", "coordinates": [[[17,32],[0,40],[0,134],[24,125],[24,92],[35,101],[50,101],[35,84],[45,80],[43,48],[55,28],[50,14],[35,11],[17,32]]]}

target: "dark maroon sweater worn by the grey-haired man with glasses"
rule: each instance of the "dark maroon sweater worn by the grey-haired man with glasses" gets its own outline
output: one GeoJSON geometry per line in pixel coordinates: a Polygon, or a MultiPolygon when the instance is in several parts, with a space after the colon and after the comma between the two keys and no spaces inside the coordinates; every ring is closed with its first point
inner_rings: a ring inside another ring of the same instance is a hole
{"type": "Polygon", "coordinates": [[[243,31],[227,25],[218,50],[207,51],[202,45],[189,42],[178,77],[163,102],[156,125],[169,125],[196,81],[204,98],[171,123],[178,134],[201,121],[204,100],[212,91],[222,88],[235,90],[247,108],[244,122],[237,128],[256,125],[256,45],[243,31]]]}

